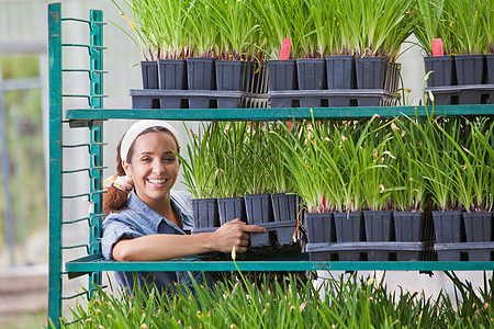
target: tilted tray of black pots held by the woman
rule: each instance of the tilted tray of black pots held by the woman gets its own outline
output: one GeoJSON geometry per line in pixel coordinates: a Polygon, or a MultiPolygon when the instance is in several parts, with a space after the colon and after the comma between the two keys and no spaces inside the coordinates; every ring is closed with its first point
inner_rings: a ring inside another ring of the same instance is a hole
{"type": "MultiPolygon", "coordinates": [[[[248,251],[240,259],[262,259],[273,254],[296,254],[305,246],[300,197],[296,194],[252,194],[244,197],[192,200],[194,229],[192,234],[215,231],[226,222],[238,218],[267,228],[250,234],[248,251]],[[299,217],[300,216],[300,217],[299,217]],[[297,218],[299,217],[299,218],[297,218]]],[[[211,252],[202,259],[228,259],[228,254],[211,252]]]]}

